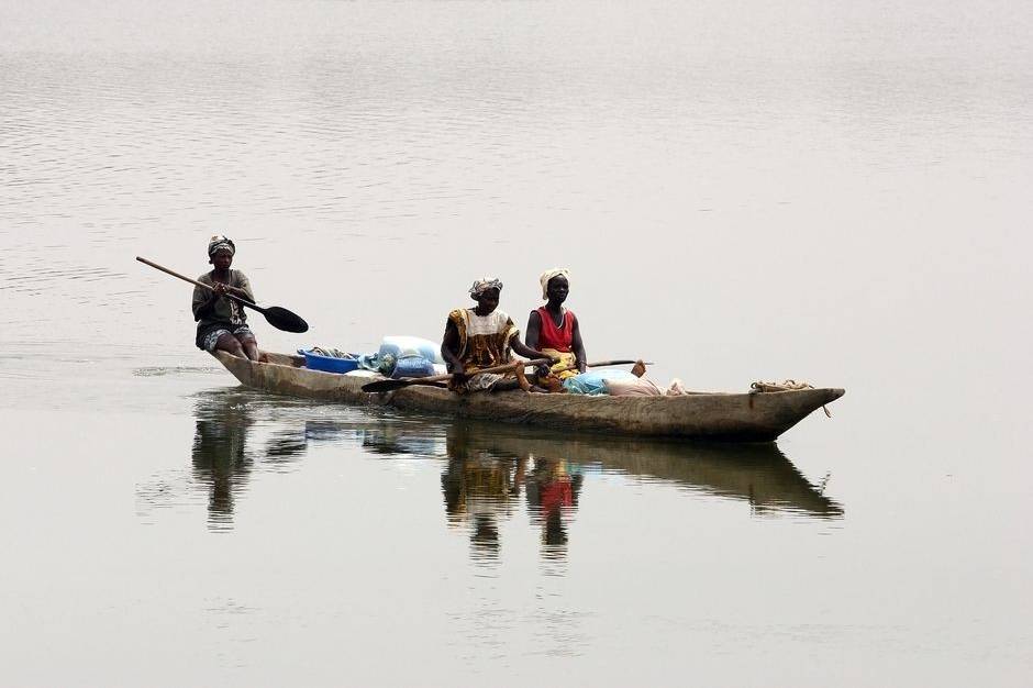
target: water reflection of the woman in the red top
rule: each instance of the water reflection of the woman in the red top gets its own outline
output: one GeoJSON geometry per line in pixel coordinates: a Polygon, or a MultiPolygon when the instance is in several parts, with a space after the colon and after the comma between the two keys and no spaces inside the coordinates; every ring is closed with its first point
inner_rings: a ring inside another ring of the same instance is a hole
{"type": "Polygon", "coordinates": [[[566,555],[568,536],[564,518],[577,507],[585,480],[577,468],[566,459],[535,457],[534,468],[527,475],[527,508],[532,520],[542,525],[542,553],[547,557],[566,555]]]}

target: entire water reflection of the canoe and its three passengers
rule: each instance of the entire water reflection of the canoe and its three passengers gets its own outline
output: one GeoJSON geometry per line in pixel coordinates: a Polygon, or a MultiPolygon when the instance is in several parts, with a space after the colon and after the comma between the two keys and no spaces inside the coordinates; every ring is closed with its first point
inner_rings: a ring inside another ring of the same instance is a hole
{"type": "Polygon", "coordinates": [[[442,489],[449,522],[469,522],[482,553],[497,548],[493,520],[522,502],[542,525],[543,546],[562,548],[586,476],[599,470],[743,500],[757,513],[843,515],[843,508],[774,444],[569,435],[479,421],[385,418],[378,411],[351,414],[352,420],[312,418],[306,402],[243,389],[198,395],[191,459],[196,478],[209,491],[211,523],[232,523],[234,499],[256,466],[293,460],[312,443],[445,460],[442,489]]]}

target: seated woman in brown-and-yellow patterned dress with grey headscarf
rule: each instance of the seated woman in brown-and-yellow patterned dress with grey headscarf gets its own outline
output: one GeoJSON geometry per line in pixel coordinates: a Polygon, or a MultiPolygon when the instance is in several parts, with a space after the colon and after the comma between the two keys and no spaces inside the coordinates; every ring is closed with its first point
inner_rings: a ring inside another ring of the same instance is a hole
{"type": "Polygon", "coordinates": [[[527,358],[548,358],[540,351],[524,346],[520,330],[504,312],[497,310],[502,282],[493,278],[478,279],[470,287],[476,308],[458,308],[448,313],[441,355],[453,374],[453,391],[502,391],[515,389],[512,376],[477,373],[484,368],[504,365],[510,360],[510,347],[527,358]]]}

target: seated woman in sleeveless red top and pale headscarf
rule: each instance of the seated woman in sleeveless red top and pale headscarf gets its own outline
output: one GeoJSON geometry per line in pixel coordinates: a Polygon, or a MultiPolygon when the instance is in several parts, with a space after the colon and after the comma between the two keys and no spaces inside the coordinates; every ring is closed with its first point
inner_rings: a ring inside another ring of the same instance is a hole
{"type": "Polygon", "coordinates": [[[574,311],[563,307],[570,292],[570,271],[567,268],[546,270],[538,278],[545,306],[531,311],[527,319],[527,346],[540,349],[559,363],[553,366],[554,376],[565,379],[587,368],[581,329],[574,311]]]}

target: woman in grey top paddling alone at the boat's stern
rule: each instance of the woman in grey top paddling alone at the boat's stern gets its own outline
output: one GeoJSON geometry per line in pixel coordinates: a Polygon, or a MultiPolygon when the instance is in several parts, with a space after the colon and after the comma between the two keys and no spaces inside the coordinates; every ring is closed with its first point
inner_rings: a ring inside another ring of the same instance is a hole
{"type": "Polygon", "coordinates": [[[198,322],[195,343],[208,353],[223,351],[241,358],[258,360],[258,342],[247,326],[244,308],[225,298],[225,295],[231,295],[255,302],[251,282],[244,273],[230,269],[235,253],[236,246],[225,236],[212,236],[208,242],[208,262],[214,269],[197,280],[211,285],[214,290],[193,288],[193,319],[198,322]]]}

